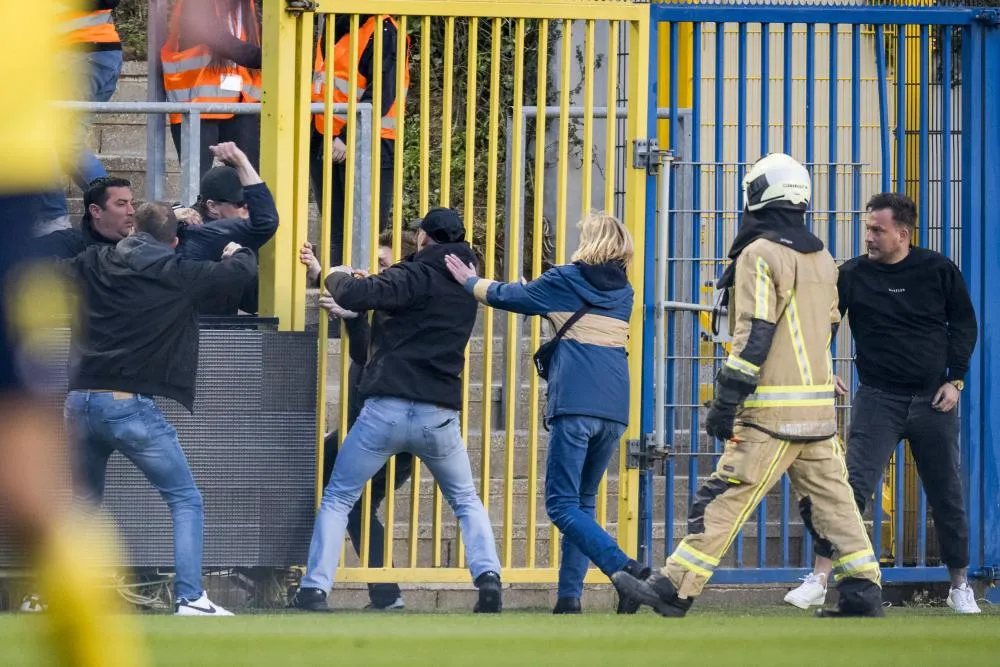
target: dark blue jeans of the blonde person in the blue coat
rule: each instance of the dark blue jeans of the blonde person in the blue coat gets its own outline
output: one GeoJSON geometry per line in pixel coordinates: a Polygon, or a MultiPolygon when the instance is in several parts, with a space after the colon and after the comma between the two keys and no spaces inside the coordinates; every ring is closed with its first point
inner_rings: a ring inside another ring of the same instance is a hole
{"type": "Polygon", "coordinates": [[[550,423],[545,510],[563,534],[559,597],[578,598],[590,561],[609,577],[628,556],[594,520],[597,488],[625,425],[568,415],[550,423]]]}

